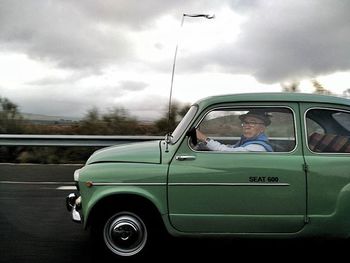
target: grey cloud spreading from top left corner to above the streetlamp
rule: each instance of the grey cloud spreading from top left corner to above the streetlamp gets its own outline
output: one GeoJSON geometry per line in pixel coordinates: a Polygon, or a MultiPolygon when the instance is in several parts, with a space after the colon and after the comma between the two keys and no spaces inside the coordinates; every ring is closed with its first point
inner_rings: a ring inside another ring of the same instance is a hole
{"type": "Polygon", "coordinates": [[[99,73],[112,64],[137,61],[127,37],[174,11],[215,1],[105,0],[0,2],[0,50],[25,53],[58,67],[99,73]]]}

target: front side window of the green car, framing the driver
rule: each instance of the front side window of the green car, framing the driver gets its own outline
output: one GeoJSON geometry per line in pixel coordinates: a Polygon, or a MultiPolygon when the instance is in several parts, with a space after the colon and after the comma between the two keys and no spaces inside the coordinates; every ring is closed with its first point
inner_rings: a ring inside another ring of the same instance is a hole
{"type": "Polygon", "coordinates": [[[220,108],[198,126],[208,140],[197,151],[290,152],[295,148],[294,115],[285,107],[220,108]]]}

